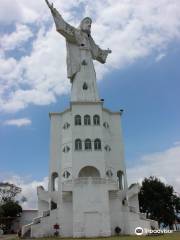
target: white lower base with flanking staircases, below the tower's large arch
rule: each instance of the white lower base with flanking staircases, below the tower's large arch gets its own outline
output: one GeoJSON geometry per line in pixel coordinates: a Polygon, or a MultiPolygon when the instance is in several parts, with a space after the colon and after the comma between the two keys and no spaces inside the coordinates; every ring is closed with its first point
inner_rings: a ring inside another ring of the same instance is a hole
{"type": "Polygon", "coordinates": [[[135,207],[122,201],[125,191],[113,187],[102,179],[76,181],[73,193],[64,192],[61,205],[24,226],[23,235],[28,232],[34,238],[54,236],[55,224],[60,227],[60,236],[76,238],[112,236],[116,227],[121,234],[135,234],[137,227],[158,228],[157,222],[146,219],[135,207]]]}

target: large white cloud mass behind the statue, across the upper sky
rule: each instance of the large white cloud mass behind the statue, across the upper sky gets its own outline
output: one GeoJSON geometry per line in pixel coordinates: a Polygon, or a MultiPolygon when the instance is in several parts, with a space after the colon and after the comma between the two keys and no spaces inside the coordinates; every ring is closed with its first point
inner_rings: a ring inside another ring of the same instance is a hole
{"type": "MultiPolygon", "coordinates": [[[[168,52],[168,45],[180,39],[179,0],[54,0],[54,5],[68,22],[76,26],[81,17],[92,16],[95,41],[102,48],[112,49],[106,65],[96,64],[98,79],[152,53],[157,56],[155,61],[159,61],[165,57],[164,52],[168,52]]],[[[69,91],[70,84],[66,77],[65,41],[54,25],[46,28],[47,24],[53,23],[48,7],[45,2],[37,0],[2,0],[0,9],[3,8],[8,10],[7,16],[0,17],[0,22],[15,23],[20,27],[2,35],[5,41],[0,50],[3,83],[0,111],[15,112],[29,104],[55,102],[58,95],[69,91]],[[14,12],[17,16],[12,14],[14,12]],[[30,41],[31,28],[38,29],[38,32],[34,31],[36,33],[30,41]],[[22,52],[20,59],[6,54],[18,46],[23,48],[27,41],[32,44],[32,50],[22,52]]]]}

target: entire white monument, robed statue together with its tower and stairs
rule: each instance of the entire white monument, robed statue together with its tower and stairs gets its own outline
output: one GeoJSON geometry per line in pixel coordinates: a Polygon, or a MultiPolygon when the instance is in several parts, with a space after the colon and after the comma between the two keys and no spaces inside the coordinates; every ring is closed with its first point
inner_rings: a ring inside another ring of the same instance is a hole
{"type": "Polygon", "coordinates": [[[122,112],[111,112],[100,100],[93,59],[105,63],[91,37],[91,19],[79,28],[66,23],[46,1],[57,31],[66,39],[70,106],[50,113],[48,191],[38,187],[38,215],[23,235],[51,236],[54,225],[63,237],[134,234],[153,223],[139,213],[138,185],[127,187],[121,131],[122,112]]]}

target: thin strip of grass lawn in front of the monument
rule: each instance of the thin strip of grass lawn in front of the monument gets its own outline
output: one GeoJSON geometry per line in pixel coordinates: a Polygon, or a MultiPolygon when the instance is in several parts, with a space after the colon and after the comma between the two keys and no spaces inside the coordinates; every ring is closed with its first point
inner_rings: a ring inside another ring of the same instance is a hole
{"type": "MultiPolygon", "coordinates": [[[[180,240],[180,232],[168,233],[160,236],[119,236],[107,238],[39,238],[39,240],[180,240]]],[[[18,238],[11,238],[8,240],[18,240],[18,238]]]]}

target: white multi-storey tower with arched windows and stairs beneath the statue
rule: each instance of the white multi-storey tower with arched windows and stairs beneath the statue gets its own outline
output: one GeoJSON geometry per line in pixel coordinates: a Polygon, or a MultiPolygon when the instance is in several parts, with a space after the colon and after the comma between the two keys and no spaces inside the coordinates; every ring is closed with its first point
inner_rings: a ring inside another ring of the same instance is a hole
{"type": "Polygon", "coordinates": [[[71,102],[50,120],[48,191],[38,187],[38,218],[23,233],[51,236],[58,223],[64,237],[111,236],[117,226],[134,234],[136,227],[156,225],[139,213],[138,185],[127,188],[120,112],[101,101],[71,102]]]}

